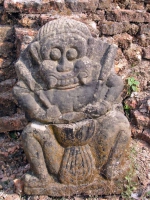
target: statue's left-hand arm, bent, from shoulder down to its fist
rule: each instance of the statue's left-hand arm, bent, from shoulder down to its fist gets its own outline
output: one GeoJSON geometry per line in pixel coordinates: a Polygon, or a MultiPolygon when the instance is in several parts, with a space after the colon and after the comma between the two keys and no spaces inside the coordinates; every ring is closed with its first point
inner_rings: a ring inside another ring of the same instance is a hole
{"type": "Polygon", "coordinates": [[[37,98],[38,93],[31,92],[22,81],[19,81],[13,88],[13,93],[30,121],[35,120],[42,123],[54,123],[55,120],[57,121],[59,116],[61,116],[56,106],[52,106],[50,103],[48,108],[46,108],[46,106],[41,106],[43,105],[42,102],[38,102],[39,100],[41,101],[41,96],[37,98]]]}

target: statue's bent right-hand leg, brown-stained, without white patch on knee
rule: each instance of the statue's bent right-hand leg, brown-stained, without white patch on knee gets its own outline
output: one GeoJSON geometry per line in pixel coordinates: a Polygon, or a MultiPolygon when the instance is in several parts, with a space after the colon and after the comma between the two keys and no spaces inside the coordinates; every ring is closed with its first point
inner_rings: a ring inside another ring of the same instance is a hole
{"type": "Polygon", "coordinates": [[[117,178],[123,175],[123,171],[118,170],[124,165],[129,151],[129,122],[121,112],[112,111],[96,123],[96,135],[91,142],[96,167],[106,178],[117,178]]]}

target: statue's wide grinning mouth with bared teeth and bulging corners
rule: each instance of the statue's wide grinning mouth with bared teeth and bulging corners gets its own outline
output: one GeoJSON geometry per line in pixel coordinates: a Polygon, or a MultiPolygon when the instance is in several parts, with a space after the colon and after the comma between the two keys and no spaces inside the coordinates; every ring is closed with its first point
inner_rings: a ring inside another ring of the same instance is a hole
{"type": "Polygon", "coordinates": [[[56,78],[54,75],[48,77],[49,88],[57,89],[70,89],[77,87],[80,84],[85,84],[88,75],[86,72],[80,72],[78,75],[71,77],[59,77],[56,78]]]}

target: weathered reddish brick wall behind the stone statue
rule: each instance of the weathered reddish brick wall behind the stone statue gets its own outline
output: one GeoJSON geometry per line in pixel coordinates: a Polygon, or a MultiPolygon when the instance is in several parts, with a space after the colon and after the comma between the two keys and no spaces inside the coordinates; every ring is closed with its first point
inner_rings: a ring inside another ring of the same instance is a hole
{"type": "MultiPolygon", "coordinates": [[[[61,16],[82,21],[94,37],[117,44],[116,72],[124,82],[135,77],[139,94],[149,94],[150,0],[0,0],[0,132],[21,130],[27,123],[12,96],[15,61],[42,25],[61,16]]],[[[133,119],[140,106],[133,108],[133,119]]],[[[147,116],[147,104],[145,109],[147,116]]]]}

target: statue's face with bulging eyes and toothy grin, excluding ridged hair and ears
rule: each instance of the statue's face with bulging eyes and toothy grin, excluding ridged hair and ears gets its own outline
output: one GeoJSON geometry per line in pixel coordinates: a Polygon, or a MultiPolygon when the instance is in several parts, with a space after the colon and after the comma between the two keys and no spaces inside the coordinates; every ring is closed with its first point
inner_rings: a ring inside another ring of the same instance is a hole
{"type": "Polygon", "coordinates": [[[59,34],[43,38],[39,44],[39,73],[48,89],[69,89],[98,78],[99,67],[87,57],[87,39],[59,34]]]}

